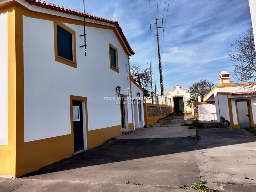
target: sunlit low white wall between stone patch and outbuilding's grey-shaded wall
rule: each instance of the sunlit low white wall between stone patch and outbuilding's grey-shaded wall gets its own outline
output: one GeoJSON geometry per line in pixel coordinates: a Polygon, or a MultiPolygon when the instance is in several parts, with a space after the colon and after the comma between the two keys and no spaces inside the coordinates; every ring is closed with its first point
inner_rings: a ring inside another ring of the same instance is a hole
{"type": "Polygon", "coordinates": [[[200,121],[213,121],[217,120],[216,119],[216,108],[215,104],[203,104],[203,105],[198,105],[198,116],[200,121]],[[214,117],[213,114],[215,113],[214,117]]]}

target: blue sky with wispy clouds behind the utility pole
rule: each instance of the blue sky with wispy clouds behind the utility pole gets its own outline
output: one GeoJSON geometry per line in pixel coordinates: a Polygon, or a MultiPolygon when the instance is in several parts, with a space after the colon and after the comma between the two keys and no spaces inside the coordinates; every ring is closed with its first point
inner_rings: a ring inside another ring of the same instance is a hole
{"type": "MultiPolygon", "coordinates": [[[[83,0],[52,1],[83,11],[83,0]]],[[[168,2],[166,0],[164,24],[168,2]]],[[[151,61],[149,1],[85,0],[85,4],[85,12],[119,22],[136,53],[130,57],[130,63],[146,67],[151,61]]],[[[165,0],[158,1],[158,11],[157,0],[150,0],[150,4],[151,22],[154,23],[156,14],[158,18],[163,18],[165,0]]],[[[233,70],[226,50],[230,49],[230,42],[249,26],[249,21],[248,0],[170,0],[164,44],[161,46],[164,92],[173,90],[176,84],[187,88],[202,78],[218,85],[220,72],[233,70]]],[[[155,33],[156,28],[152,25],[153,81],[156,80],[156,86],[160,87],[155,33]]],[[[161,28],[159,34],[161,40],[161,28]]]]}

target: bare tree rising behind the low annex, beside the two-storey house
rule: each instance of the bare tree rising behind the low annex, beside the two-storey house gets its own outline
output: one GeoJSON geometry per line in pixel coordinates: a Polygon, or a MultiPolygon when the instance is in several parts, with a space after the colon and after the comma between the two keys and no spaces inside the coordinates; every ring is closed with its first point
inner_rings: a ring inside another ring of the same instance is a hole
{"type": "Polygon", "coordinates": [[[144,89],[145,99],[151,99],[150,68],[140,68],[132,63],[130,71],[132,79],[144,89]]]}

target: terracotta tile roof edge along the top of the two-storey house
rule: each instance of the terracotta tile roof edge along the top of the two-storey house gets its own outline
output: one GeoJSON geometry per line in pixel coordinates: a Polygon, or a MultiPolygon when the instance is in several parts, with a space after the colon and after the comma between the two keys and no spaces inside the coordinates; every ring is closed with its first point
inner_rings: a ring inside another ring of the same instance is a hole
{"type": "Polygon", "coordinates": [[[24,0],[24,1],[28,2],[31,5],[36,5],[37,7],[40,6],[42,8],[51,9],[51,10],[54,10],[54,11],[59,11],[59,12],[67,13],[67,14],[72,14],[72,15],[76,15],[76,16],[79,16],[79,17],[85,17],[85,18],[88,18],[88,19],[102,21],[102,22],[105,22],[105,23],[115,24],[119,34],[121,35],[122,39],[124,40],[124,44],[126,45],[127,49],[133,55],[135,54],[135,52],[132,51],[126,37],[124,36],[124,32],[121,29],[121,27],[119,26],[117,21],[113,21],[113,20],[105,19],[105,18],[98,17],[98,16],[95,16],[95,15],[91,15],[91,14],[88,14],[88,13],[76,11],[74,9],[71,10],[71,9],[68,9],[67,7],[66,8],[60,7],[60,5],[46,3],[45,1],[42,2],[41,0],[24,0]]]}

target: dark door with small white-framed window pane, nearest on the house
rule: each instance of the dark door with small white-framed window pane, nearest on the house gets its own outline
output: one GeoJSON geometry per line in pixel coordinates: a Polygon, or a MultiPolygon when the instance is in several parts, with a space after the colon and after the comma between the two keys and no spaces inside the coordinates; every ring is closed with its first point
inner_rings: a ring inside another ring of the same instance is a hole
{"type": "Polygon", "coordinates": [[[84,149],[84,127],[82,101],[73,100],[73,129],[75,152],[84,149]]]}

